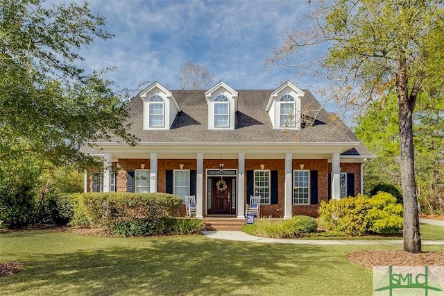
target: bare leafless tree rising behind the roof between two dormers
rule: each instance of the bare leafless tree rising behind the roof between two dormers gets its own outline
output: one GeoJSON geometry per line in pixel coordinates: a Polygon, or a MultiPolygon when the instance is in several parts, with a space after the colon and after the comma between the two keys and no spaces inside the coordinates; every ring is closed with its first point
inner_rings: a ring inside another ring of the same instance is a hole
{"type": "Polygon", "coordinates": [[[212,81],[207,67],[187,62],[180,68],[178,85],[181,90],[205,90],[212,81]]]}

